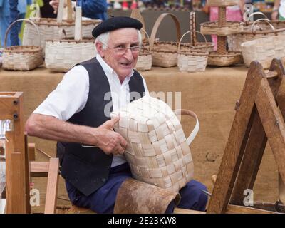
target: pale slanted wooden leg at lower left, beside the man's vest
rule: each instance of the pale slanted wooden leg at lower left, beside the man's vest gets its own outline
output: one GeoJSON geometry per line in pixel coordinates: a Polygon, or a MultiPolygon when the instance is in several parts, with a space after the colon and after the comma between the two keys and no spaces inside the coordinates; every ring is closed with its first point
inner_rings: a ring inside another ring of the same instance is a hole
{"type": "Polygon", "coordinates": [[[51,158],[48,168],[48,185],[46,187],[45,214],[56,212],[56,199],[58,195],[59,160],[51,158]]]}

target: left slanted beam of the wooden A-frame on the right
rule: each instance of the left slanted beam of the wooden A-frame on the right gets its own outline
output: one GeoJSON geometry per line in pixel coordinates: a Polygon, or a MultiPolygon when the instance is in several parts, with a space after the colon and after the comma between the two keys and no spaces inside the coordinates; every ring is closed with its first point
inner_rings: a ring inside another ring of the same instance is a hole
{"type": "Polygon", "coordinates": [[[254,117],[252,110],[261,78],[266,78],[266,75],[261,64],[254,61],[249,66],[242,95],[236,107],[237,112],[229,133],[229,139],[224,150],[207,213],[224,213],[229,204],[229,198],[243,155],[242,147],[246,145],[244,139],[247,138],[246,136],[251,128],[250,119],[254,117]]]}

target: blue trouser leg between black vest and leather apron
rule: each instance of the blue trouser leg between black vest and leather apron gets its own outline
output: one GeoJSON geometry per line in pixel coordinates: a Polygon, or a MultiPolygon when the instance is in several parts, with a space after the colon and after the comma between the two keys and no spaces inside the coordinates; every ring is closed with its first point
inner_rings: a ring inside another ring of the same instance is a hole
{"type": "Polygon", "coordinates": [[[130,177],[132,177],[130,168],[125,163],[123,165],[119,165],[118,167],[112,168],[110,170],[108,181],[105,183],[105,185],[100,187],[88,197],[76,190],[76,188],[68,182],[66,182],[66,190],[72,204],[78,207],[89,208],[100,214],[113,213],[113,209],[115,207],[115,198],[120,185],[122,185],[122,183],[130,177]]]}

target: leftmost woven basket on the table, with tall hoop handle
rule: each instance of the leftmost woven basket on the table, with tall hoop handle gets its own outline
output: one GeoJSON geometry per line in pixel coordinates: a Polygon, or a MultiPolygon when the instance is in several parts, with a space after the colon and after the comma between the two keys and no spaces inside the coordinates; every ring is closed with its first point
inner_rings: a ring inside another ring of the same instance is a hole
{"type": "MultiPolygon", "coordinates": [[[[13,71],[30,71],[37,68],[43,63],[43,53],[40,46],[11,46],[6,48],[6,40],[11,27],[18,21],[26,21],[31,23],[37,29],[36,24],[28,19],[19,19],[14,21],[6,30],[2,67],[6,70],[13,71]]],[[[38,44],[41,40],[41,35],[38,31],[38,44]]]]}

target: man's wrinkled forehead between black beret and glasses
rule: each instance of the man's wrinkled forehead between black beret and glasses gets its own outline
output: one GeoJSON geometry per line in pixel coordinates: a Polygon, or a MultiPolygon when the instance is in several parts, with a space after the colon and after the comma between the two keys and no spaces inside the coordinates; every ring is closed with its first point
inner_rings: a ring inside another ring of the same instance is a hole
{"type": "Polygon", "coordinates": [[[138,30],[135,28],[120,28],[110,32],[109,44],[139,43],[138,30]]]}

